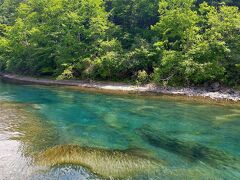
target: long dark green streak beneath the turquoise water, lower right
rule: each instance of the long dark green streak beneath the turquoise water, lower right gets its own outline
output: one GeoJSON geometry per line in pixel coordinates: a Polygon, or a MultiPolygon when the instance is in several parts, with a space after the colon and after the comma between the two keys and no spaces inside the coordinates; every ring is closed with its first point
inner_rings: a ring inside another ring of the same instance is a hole
{"type": "Polygon", "coordinates": [[[199,143],[181,141],[177,138],[169,137],[150,126],[137,129],[137,134],[150,145],[175,153],[190,161],[205,162],[214,168],[223,168],[225,166],[239,168],[239,159],[224,151],[199,143]]]}

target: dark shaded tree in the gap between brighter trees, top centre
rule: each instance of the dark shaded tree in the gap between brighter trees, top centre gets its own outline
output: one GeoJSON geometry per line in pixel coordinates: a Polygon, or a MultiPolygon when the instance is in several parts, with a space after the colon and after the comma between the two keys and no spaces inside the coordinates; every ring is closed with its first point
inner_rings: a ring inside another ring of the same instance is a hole
{"type": "Polygon", "coordinates": [[[135,36],[151,40],[151,25],[159,18],[159,0],[105,0],[110,20],[121,28],[117,36],[125,49],[135,43],[135,36]]]}

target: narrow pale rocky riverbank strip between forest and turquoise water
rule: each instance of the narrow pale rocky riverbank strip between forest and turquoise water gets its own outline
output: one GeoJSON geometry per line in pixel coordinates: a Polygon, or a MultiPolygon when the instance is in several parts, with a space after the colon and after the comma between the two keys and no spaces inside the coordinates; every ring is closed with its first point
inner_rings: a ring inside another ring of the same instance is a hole
{"type": "Polygon", "coordinates": [[[10,74],[0,74],[3,79],[15,82],[40,84],[40,85],[61,85],[61,86],[75,86],[79,88],[94,88],[103,91],[121,91],[121,92],[135,92],[135,93],[154,93],[167,95],[184,95],[211,98],[214,100],[229,100],[240,101],[240,92],[229,88],[219,88],[217,91],[208,88],[175,88],[175,87],[159,87],[153,84],[148,85],[130,85],[126,83],[116,82],[94,82],[94,81],[80,81],[80,80],[51,80],[42,78],[25,77],[10,74]]]}

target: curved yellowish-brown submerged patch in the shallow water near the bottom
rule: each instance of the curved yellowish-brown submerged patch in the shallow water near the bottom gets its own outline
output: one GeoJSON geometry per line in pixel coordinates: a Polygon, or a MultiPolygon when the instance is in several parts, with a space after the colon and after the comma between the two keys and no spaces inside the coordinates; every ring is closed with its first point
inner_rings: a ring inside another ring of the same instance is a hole
{"type": "Polygon", "coordinates": [[[49,148],[36,157],[41,166],[76,164],[103,177],[126,177],[148,173],[160,167],[160,162],[132,152],[61,145],[49,148]]]}

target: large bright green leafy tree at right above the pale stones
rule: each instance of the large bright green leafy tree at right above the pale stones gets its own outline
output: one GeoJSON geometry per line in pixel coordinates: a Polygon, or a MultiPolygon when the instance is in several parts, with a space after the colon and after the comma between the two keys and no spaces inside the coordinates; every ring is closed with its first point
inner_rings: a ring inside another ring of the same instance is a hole
{"type": "Polygon", "coordinates": [[[161,55],[155,80],[171,84],[228,83],[230,76],[239,74],[239,10],[225,5],[218,10],[207,3],[196,9],[193,3],[160,2],[161,19],[153,27],[159,38],[155,47],[161,55]]]}

